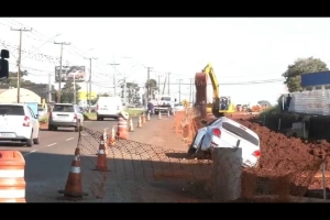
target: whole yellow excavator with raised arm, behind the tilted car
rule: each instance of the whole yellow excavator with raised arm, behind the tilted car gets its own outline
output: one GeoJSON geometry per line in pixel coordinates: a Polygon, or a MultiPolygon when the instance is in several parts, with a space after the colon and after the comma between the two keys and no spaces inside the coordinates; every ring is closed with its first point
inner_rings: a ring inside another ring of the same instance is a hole
{"type": "Polygon", "coordinates": [[[212,112],[217,118],[223,117],[224,113],[233,113],[235,111],[234,105],[230,97],[219,96],[219,84],[211,64],[208,64],[201,73],[195,75],[196,86],[196,107],[200,110],[201,117],[206,118],[207,113],[212,112]],[[212,102],[207,100],[208,86],[212,86],[213,99],[212,102]]]}

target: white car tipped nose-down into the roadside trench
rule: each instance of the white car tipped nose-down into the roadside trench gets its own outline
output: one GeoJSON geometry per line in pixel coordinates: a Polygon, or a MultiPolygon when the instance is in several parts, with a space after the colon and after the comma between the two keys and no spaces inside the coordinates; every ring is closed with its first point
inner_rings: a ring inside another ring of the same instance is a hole
{"type": "Polygon", "coordinates": [[[210,152],[212,147],[240,147],[243,166],[254,167],[258,164],[261,155],[258,135],[229,118],[221,117],[198,130],[188,155],[196,156],[201,152],[210,152]]]}

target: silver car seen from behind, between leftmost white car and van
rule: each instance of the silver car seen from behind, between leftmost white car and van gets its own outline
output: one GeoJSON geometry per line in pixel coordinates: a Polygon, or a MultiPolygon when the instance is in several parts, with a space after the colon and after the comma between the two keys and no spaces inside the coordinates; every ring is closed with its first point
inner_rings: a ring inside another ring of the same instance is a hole
{"type": "Polygon", "coordinates": [[[55,103],[50,113],[48,130],[56,131],[58,127],[74,128],[76,132],[84,125],[84,116],[77,105],[55,103]]]}

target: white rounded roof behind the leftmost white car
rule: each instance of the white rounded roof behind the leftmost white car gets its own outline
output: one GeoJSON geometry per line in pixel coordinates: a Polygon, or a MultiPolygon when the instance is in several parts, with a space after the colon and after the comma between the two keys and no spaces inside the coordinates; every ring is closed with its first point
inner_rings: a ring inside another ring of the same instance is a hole
{"type": "MultiPolygon", "coordinates": [[[[7,89],[6,91],[2,91],[0,94],[0,103],[16,103],[18,101],[18,89],[13,88],[13,89],[7,89]]],[[[24,89],[21,88],[20,89],[20,102],[24,103],[24,102],[37,102],[41,103],[42,98],[29,90],[29,89],[24,89]]]]}

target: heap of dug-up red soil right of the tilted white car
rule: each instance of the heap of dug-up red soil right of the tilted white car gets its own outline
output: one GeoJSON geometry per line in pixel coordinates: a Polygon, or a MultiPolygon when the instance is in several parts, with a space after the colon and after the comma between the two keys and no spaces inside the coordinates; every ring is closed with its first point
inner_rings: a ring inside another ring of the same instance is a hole
{"type": "MultiPolygon", "coordinates": [[[[272,195],[270,186],[276,185],[277,193],[292,196],[322,198],[321,163],[326,161],[327,197],[330,199],[330,143],[326,140],[301,140],[253,122],[253,117],[228,116],[256,132],[261,140],[258,168],[245,168],[243,176],[254,179],[248,186],[255,195],[272,195]],[[284,179],[285,178],[285,179],[284,179]],[[279,179],[279,180],[278,180],[279,179]],[[282,183],[280,183],[282,182],[282,183]],[[279,183],[279,184],[278,184],[279,183]],[[251,188],[253,185],[253,189],[251,188]],[[282,191],[282,193],[278,193],[282,191]]],[[[215,120],[210,117],[207,121],[215,120]]],[[[195,118],[195,129],[202,127],[200,118],[195,118]]],[[[255,120],[254,120],[255,121],[255,120]]],[[[274,128],[276,125],[274,124],[274,128]]],[[[249,182],[249,180],[248,180],[249,182]]],[[[272,188],[272,187],[271,187],[272,188]]],[[[274,186],[273,186],[274,188],[274,186]]],[[[276,188],[276,187],[275,187],[276,188]]]]}

